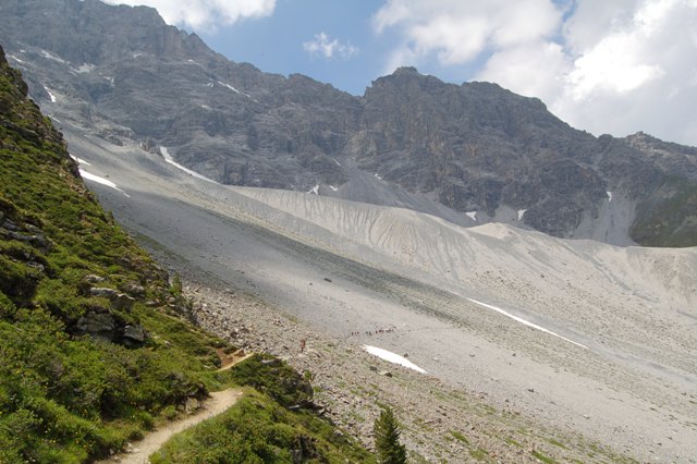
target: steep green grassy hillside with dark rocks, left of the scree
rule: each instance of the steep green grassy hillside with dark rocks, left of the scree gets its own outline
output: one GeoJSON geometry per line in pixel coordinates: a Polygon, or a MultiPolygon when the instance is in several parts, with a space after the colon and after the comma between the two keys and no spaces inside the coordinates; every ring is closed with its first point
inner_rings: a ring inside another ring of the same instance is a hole
{"type": "Polygon", "coordinates": [[[187,399],[231,384],[264,390],[248,401],[279,412],[235,406],[231,416],[258,427],[223,450],[243,443],[259,462],[285,462],[299,444],[320,443],[313,448],[319,461],[368,459],[326,434],[333,429],[310,408],[286,408],[295,393],[309,406],[311,389],[297,374],[244,364],[217,371],[217,350],[232,347],[187,321],[180,288],[101,209],[26,94],[0,48],[0,463],[105,456],[175,416],[187,399]]]}

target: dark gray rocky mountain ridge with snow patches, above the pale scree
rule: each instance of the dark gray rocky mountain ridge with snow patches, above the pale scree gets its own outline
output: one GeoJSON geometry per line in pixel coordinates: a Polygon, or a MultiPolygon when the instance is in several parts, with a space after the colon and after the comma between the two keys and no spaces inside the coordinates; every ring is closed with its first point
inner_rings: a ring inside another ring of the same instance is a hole
{"type": "Polygon", "coordinates": [[[114,145],[166,147],[221,183],[402,206],[465,225],[477,211],[477,222],[583,237],[582,223],[613,222],[599,218],[612,197],[636,206],[637,220],[611,235],[656,230],[665,219],[655,208],[680,178],[672,228],[695,222],[685,192],[697,183],[697,149],[641,133],[597,138],[496,84],[445,84],[403,68],[354,97],[231,62],[149,8],[8,0],[0,15],[0,41],[45,111],[114,145]]]}

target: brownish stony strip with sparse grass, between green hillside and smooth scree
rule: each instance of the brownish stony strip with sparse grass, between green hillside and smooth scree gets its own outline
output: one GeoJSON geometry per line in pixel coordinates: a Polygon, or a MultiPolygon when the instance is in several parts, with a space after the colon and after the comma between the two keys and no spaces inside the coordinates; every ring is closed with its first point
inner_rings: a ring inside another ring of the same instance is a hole
{"type": "Polygon", "coordinates": [[[548,429],[505,401],[497,404],[485,391],[454,389],[371,356],[351,339],[325,337],[254,296],[195,283],[186,293],[206,329],[245,351],[270,352],[309,371],[318,405],[369,448],[372,423],[380,405],[388,404],[403,423],[403,442],[415,462],[624,460],[574,434],[548,429]]]}

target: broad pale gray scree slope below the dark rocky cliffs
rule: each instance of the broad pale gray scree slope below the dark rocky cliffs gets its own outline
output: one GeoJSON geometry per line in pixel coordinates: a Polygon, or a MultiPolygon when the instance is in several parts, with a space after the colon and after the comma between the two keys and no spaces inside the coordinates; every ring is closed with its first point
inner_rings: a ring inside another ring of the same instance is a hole
{"type": "MultiPolygon", "coordinates": [[[[100,147],[103,142],[70,133],[68,139],[73,154],[91,163],[85,169],[122,188],[90,184],[106,207],[180,272],[262,298],[323,345],[334,343],[332,359],[338,351],[351,353],[341,371],[352,374],[328,383],[331,389],[360,398],[355,391],[376,376],[364,371],[368,355],[359,346],[376,345],[408,353],[429,373],[377,376],[402,386],[401,394],[382,383],[364,392],[374,401],[398,401],[413,417],[409,429],[428,429],[433,423],[423,424],[427,411],[457,408],[447,399],[463,394],[473,410],[496,412],[480,414],[488,417],[489,436],[506,423],[497,416],[506,411],[527,424],[506,430],[559,431],[573,452],[539,437],[529,447],[546,447],[546,455],[563,461],[602,460],[576,444],[590,440],[640,461],[695,462],[697,249],[620,248],[501,224],[462,229],[403,209],[223,187],[133,147],[100,147]],[[578,436],[586,438],[568,438],[578,436]]],[[[235,329],[246,322],[244,315],[230,319],[231,295],[207,297],[224,309],[212,313],[219,325],[209,317],[207,323],[239,337],[235,329]]],[[[256,325],[270,316],[249,317],[256,325]]],[[[295,343],[265,337],[265,330],[257,335],[271,351],[295,343]]],[[[318,366],[313,370],[322,378],[329,368],[318,366]]],[[[371,411],[368,400],[360,401],[355,405],[371,411]]],[[[354,415],[354,428],[366,437],[370,413],[354,415]]],[[[448,422],[431,436],[411,431],[411,444],[437,460],[456,425],[448,422]]],[[[482,447],[499,456],[519,451],[501,443],[482,447]]]]}

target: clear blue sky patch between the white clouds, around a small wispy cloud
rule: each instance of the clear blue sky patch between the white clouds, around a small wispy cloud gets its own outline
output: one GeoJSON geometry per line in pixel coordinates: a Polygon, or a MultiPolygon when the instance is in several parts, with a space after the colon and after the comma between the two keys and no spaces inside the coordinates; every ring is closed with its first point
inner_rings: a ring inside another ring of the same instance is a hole
{"type": "Polygon", "coordinates": [[[231,27],[204,30],[200,37],[233,61],[246,61],[266,72],[306,74],[354,95],[381,73],[381,57],[389,52],[389,38],[377,39],[371,15],[377,0],[278,0],[272,15],[244,19],[231,27]],[[334,51],[332,57],[311,53],[303,44],[326,34],[353,47],[353,53],[334,51]]]}

